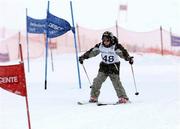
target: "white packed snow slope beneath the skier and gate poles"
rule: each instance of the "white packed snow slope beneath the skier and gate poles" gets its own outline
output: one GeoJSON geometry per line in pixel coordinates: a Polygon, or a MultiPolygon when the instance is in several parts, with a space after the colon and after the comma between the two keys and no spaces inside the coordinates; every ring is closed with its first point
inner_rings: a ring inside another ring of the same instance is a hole
{"type": "MultiPolygon", "coordinates": [[[[131,67],[121,59],[120,78],[131,104],[78,105],[88,101],[90,83],[80,67],[79,88],[75,54],[54,55],[48,59],[48,83],[44,89],[44,58],[30,60],[26,81],[32,129],[180,129],[180,57],[134,54],[135,86],[131,67]]],[[[100,56],[84,61],[93,81],[100,56]]],[[[100,102],[118,100],[107,79],[100,102]]],[[[0,129],[28,129],[25,98],[0,89],[0,129]]]]}

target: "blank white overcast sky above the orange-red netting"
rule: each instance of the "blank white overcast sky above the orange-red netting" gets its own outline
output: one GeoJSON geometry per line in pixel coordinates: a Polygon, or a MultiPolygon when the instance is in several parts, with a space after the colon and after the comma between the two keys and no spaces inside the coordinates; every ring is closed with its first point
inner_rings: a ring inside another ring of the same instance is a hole
{"type": "MultiPolygon", "coordinates": [[[[72,0],[75,22],[92,29],[119,26],[137,32],[159,28],[180,35],[180,0],[72,0]],[[127,11],[119,11],[127,4],[127,11]]],[[[0,27],[25,29],[26,12],[45,18],[47,0],[0,0],[0,27]]],[[[50,0],[50,12],[72,23],[69,0],[50,0]]]]}

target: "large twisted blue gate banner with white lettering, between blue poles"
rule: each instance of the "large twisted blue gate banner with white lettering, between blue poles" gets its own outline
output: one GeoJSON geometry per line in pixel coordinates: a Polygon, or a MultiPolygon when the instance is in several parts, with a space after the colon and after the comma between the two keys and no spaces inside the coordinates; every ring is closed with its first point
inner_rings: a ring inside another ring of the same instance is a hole
{"type": "Polygon", "coordinates": [[[69,30],[72,30],[73,33],[75,31],[68,21],[56,17],[49,12],[47,13],[47,19],[34,19],[27,16],[28,33],[47,33],[48,38],[55,38],[65,34],[69,30]]]}

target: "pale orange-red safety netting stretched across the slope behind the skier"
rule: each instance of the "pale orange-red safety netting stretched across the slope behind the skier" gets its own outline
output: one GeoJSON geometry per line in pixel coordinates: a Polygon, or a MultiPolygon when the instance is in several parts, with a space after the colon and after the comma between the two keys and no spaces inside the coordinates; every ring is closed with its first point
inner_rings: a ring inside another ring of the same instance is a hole
{"type": "MultiPolygon", "coordinates": [[[[162,55],[180,56],[180,37],[171,31],[157,28],[149,32],[133,32],[122,27],[111,27],[101,30],[92,30],[80,25],[76,26],[78,52],[84,52],[101,41],[101,35],[109,30],[115,35],[118,31],[119,42],[128,51],[135,53],[156,53],[162,55]],[[176,44],[174,42],[177,38],[176,44]]],[[[18,32],[7,28],[0,28],[0,62],[17,60],[18,55],[18,32]]],[[[21,44],[23,56],[27,59],[26,31],[21,32],[21,44]]],[[[45,35],[29,34],[29,57],[30,59],[43,57],[45,54],[45,35]]],[[[49,51],[53,54],[74,53],[73,33],[52,38],[49,41],[49,51]]]]}

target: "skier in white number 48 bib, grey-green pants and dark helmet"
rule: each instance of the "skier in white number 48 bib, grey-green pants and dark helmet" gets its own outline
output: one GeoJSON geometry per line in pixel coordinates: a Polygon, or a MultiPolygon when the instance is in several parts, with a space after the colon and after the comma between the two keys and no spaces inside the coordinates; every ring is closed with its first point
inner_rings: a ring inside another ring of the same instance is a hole
{"type": "Polygon", "coordinates": [[[93,84],[91,86],[92,89],[89,102],[98,102],[100,88],[107,77],[110,77],[110,80],[112,81],[112,84],[118,96],[117,103],[129,102],[129,98],[126,95],[125,89],[123,88],[119,77],[120,61],[118,56],[125,59],[126,61],[129,61],[131,65],[134,62],[133,57],[129,55],[127,50],[118,43],[118,39],[109,31],[105,31],[103,33],[102,42],[96,44],[95,47],[91,48],[79,57],[79,62],[83,64],[83,61],[85,59],[95,57],[99,53],[101,53],[102,61],[100,63],[98,75],[96,78],[94,78],[93,84]]]}

